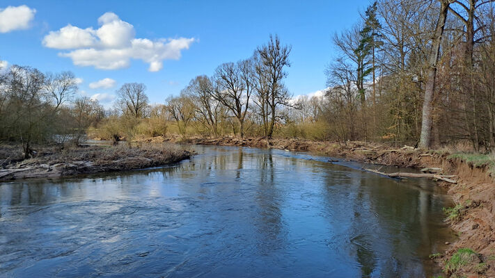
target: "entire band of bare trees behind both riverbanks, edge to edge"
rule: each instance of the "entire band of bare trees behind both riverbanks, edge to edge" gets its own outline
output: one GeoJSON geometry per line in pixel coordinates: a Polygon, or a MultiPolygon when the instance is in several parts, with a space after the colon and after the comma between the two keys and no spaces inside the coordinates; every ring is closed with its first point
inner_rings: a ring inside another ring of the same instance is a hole
{"type": "MultiPolygon", "coordinates": [[[[1,70],[0,140],[79,145],[179,134],[304,138],[495,149],[495,6],[485,0],[379,0],[340,33],[322,94],[294,97],[284,83],[292,47],[278,35],[180,95],[151,104],[143,83],[125,83],[112,108],[77,94],[71,72],[1,70]]],[[[322,30],[322,33],[325,31],[322,30]]],[[[164,96],[167,95],[164,92],[164,96]]]]}

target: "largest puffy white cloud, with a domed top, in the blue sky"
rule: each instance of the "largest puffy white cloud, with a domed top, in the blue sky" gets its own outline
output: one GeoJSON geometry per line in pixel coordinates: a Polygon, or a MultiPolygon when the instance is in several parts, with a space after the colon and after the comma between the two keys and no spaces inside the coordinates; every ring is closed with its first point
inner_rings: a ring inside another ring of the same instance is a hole
{"type": "Polygon", "coordinates": [[[100,28],[79,28],[68,25],[51,31],[43,38],[43,45],[53,49],[70,49],[58,55],[72,59],[74,65],[93,66],[100,70],[129,67],[131,59],[149,64],[150,72],[163,68],[163,60],[178,60],[183,49],[189,49],[194,38],[149,40],[134,38],[134,26],[114,13],[98,19],[100,28]]]}

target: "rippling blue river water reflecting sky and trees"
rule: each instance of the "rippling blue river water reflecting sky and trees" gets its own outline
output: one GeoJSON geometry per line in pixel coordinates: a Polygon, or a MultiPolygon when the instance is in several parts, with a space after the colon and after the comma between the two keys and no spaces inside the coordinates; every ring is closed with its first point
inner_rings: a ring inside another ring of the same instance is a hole
{"type": "Polygon", "coordinates": [[[0,183],[0,277],[430,277],[449,199],[274,149],[0,183]]]}

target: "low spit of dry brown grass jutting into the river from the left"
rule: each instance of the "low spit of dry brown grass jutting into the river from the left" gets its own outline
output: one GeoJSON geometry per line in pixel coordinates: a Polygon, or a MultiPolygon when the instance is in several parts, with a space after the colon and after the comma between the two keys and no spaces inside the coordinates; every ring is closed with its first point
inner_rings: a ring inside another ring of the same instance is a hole
{"type": "Polygon", "coordinates": [[[173,144],[140,144],[139,147],[86,146],[42,148],[34,158],[21,160],[20,149],[2,146],[0,181],[54,178],[74,174],[136,170],[177,163],[191,152],[173,144]],[[20,157],[20,158],[19,158],[20,157]]]}

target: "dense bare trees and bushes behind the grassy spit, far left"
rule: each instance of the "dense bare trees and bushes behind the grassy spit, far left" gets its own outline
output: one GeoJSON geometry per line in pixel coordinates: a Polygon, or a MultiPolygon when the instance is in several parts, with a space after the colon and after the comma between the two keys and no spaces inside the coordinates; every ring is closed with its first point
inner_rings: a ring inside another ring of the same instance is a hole
{"type": "Polygon", "coordinates": [[[77,89],[72,72],[44,74],[13,65],[0,74],[0,140],[21,143],[25,158],[34,154],[33,145],[79,142],[104,109],[75,97],[77,89]]]}

